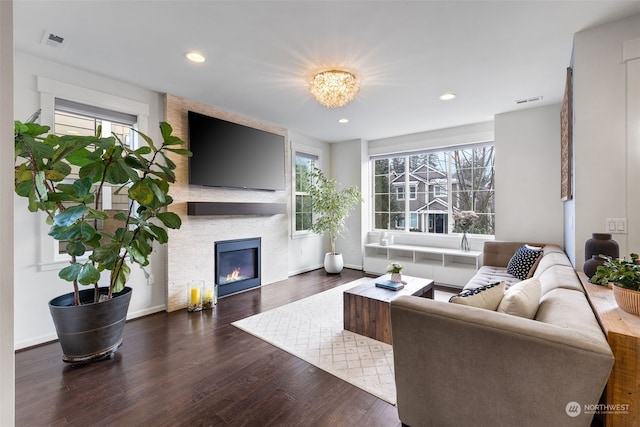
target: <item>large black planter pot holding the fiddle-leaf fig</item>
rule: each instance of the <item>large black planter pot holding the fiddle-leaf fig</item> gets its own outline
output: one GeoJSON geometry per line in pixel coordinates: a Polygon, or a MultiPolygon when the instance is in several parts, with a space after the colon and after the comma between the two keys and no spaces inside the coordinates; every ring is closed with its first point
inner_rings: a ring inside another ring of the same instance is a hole
{"type": "MultiPolygon", "coordinates": [[[[107,288],[100,288],[107,294],[107,288]]],[[[107,301],[92,303],[93,289],[80,291],[81,305],[73,305],[73,293],[49,301],[49,311],[62,346],[62,360],[87,363],[112,357],[122,344],[122,331],[131,301],[131,288],[107,301]]]]}

